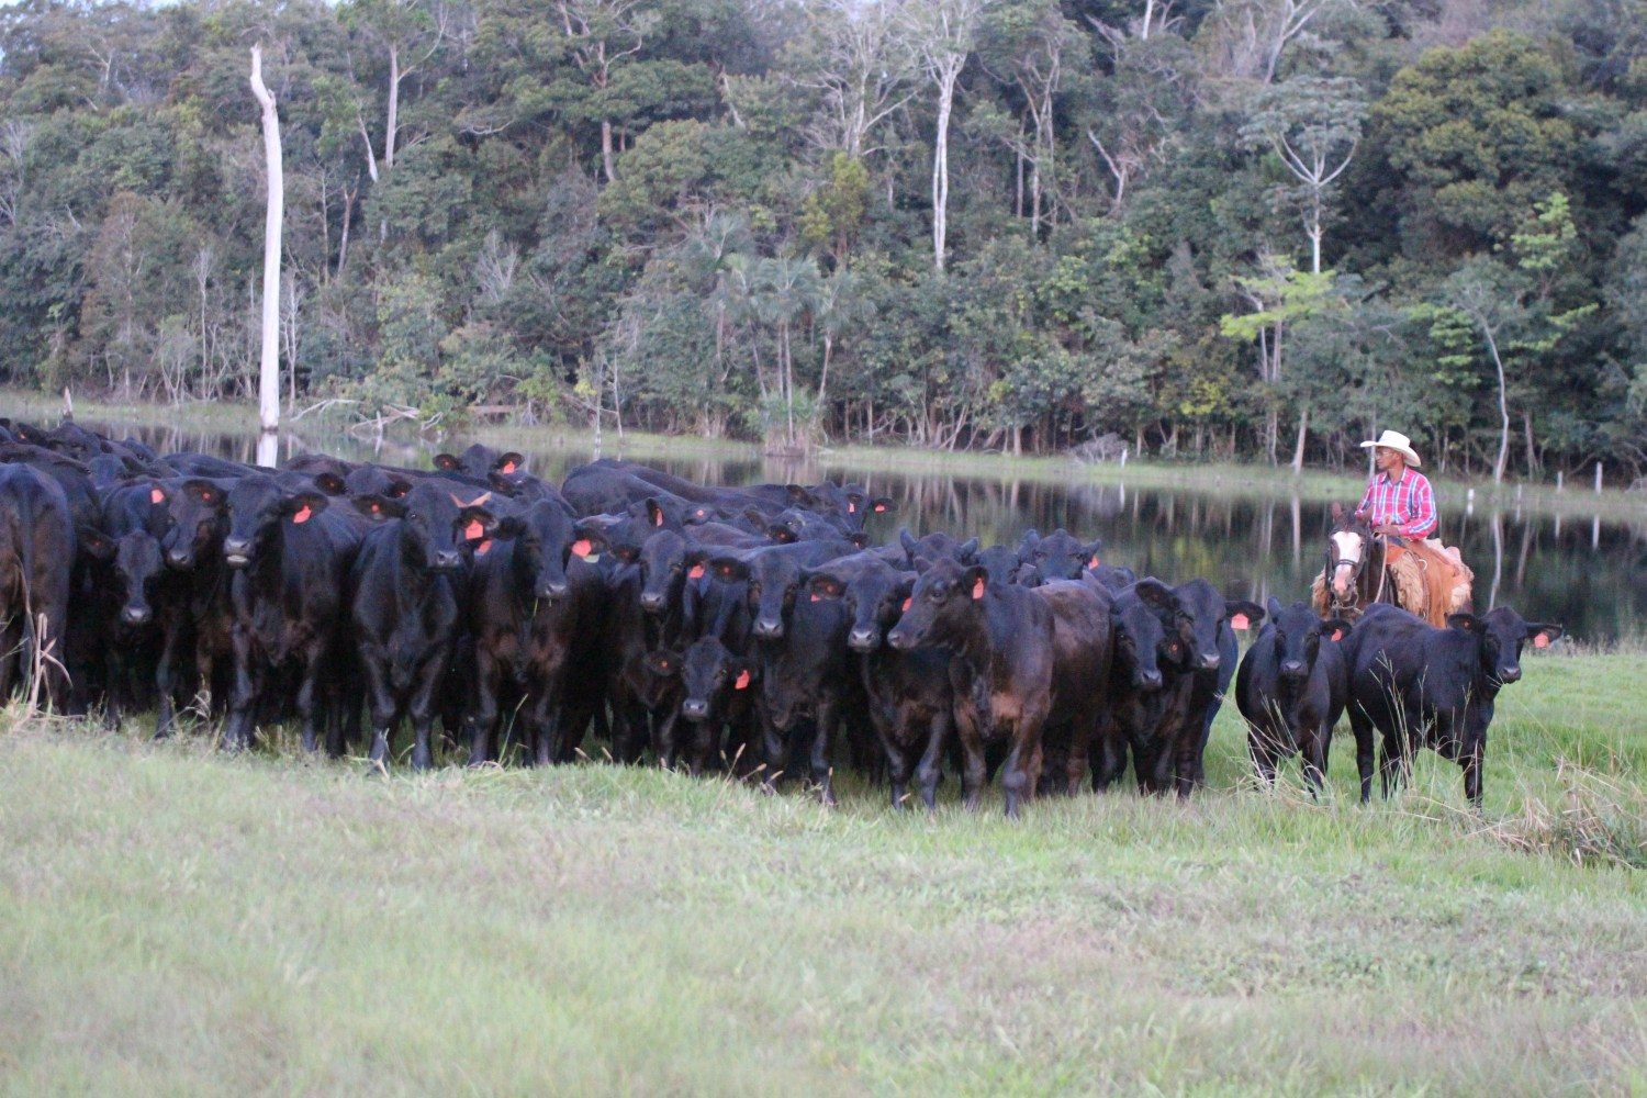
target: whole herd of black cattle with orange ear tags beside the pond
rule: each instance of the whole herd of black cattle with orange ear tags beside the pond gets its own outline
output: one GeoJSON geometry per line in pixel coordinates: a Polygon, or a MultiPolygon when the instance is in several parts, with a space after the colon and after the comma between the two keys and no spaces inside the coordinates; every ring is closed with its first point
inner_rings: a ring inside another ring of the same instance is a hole
{"type": "Polygon", "coordinates": [[[914,780],[931,807],[947,762],[968,807],[998,772],[1015,815],[1128,762],[1141,790],[1189,797],[1235,632],[1263,621],[1235,698],[1265,780],[1301,754],[1319,787],[1349,710],[1362,800],[1377,731],[1385,793],[1428,744],[1479,803],[1494,696],[1523,642],[1560,635],[1509,607],[1321,621],[1140,579],[1062,530],[873,545],[865,520],[893,504],[851,484],[595,461],[557,489],[524,466],[471,446],[433,471],[275,471],[0,418],[0,698],[33,683],[112,724],[155,706],[156,736],[209,698],[224,747],[295,719],[334,757],[364,706],[371,761],[407,718],[417,769],[436,724],[471,764],[565,762],[593,729],[621,762],[800,774],[825,800],[838,752],[894,805],[914,780]]]}

